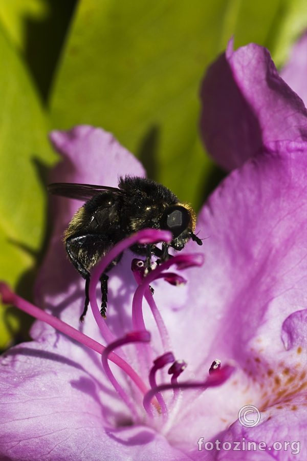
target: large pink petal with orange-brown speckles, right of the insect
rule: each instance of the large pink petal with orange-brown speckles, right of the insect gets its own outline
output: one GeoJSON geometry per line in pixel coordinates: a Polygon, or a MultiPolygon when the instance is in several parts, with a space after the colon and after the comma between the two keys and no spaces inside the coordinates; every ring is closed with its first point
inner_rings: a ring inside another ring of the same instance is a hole
{"type": "MultiPolygon", "coordinates": [[[[205,264],[186,271],[189,283],[172,299],[162,282],[155,289],[185,372],[205,373],[215,358],[238,367],[202,405],[184,393],[189,413],[169,434],[179,446],[187,424],[196,437],[201,421],[209,440],[247,403],[267,407],[307,386],[307,328],[299,316],[307,308],[307,144],[271,148],[232,172],[202,209],[196,232],[205,238],[198,248],[205,264]]],[[[185,251],[194,252],[194,242],[185,251]]]]}

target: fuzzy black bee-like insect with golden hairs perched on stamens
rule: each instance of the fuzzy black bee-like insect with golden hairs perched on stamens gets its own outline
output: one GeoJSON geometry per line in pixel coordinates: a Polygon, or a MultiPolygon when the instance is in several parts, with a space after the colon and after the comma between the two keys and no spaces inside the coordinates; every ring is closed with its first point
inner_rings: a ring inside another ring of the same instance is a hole
{"type": "MultiPolygon", "coordinates": [[[[117,187],[91,184],[54,183],[49,192],[63,197],[84,200],[64,233],[68,257],[78,273],[85,279],[85,303],[80,317],[83,322],[89,305],[90,269],[108,250],[128,235],[145,228],[166,229],[173,235],[169,243],[156,245],[134,244],[131,250],[146,256],[147,270],[154,255],[165,261],[169,247],[182,250],[189,239],[202,245],[195,234],[196,217],[190,205],[180,203],[176,195],[151,179],[120,177],[117,187]]],[[[106,317],[106,272],[117,264],[120,255],[100,277],[102,317],[106,317]]]]}

